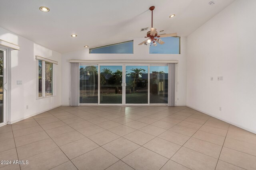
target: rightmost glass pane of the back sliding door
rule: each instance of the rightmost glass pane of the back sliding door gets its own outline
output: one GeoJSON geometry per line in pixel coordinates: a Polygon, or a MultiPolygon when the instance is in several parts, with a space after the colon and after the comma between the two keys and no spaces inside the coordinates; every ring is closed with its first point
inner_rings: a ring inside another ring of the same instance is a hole
{"type": "Polygon", "coordinates": [[[150,66],[150,104],[168,103],[168,66],[150,66]]]}

